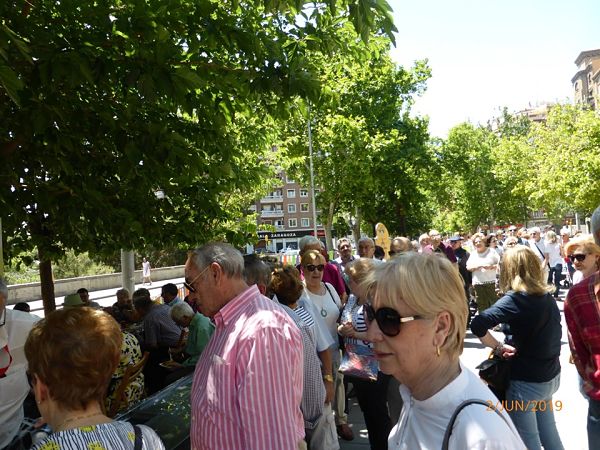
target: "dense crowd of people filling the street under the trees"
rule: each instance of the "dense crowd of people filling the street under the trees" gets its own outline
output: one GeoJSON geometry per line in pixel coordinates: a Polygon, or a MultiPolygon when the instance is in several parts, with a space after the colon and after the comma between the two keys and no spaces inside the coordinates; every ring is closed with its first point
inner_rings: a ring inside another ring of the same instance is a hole
{"type": "Polygon", "coordinates": [[[353,391],[372,450],[562,449],[551,408],[485,409],[496,394],[552,403],[563,286],[572,286],[564,311],[594,448],[600,208],[592,231],[509,226],[444,239],[430,230],[379,251],[361,238],[356,255],[343,238],[332,259],[306,236],[296,266],[209,243],[189,254],[184,299],[165,284],[162,302],[145,288],[121,289],[100,308],[81,289],[42,320],[7,308],[0,282],[0,448],[14,445],[28,394],[52,431],[36,450],[164,448],[152,429],[107,411],[193,373],[192,448],[337,450],[338,438],[354,438],[353,391]],[[468,329],[511,362],[505,391],[493,393],[461,363],[468,329]],[[115,398],[142,360],[143,375],[115,398]]]}

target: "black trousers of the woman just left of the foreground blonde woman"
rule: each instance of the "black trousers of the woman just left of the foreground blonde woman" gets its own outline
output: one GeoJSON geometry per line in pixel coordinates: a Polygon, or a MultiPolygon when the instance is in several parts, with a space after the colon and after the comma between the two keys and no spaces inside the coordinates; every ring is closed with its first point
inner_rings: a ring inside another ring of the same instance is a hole
{"type": "Polygon", "coordinates": [[[365,417],[371,450],[387,450],[387,438],[392,431],[387,405],[390,376],[379,372],[377,381],[349,378],[365,417]]]}

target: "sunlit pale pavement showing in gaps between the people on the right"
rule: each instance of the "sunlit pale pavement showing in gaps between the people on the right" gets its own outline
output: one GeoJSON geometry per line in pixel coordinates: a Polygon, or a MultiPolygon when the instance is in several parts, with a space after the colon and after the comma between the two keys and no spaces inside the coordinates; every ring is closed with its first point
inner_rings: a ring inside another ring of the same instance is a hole
{"type": "MultiPolygon", "coordinates": [[[[565,292],[561,292],[561,298],[564,298],[565,292]]],[[[560,355],[562,372],[560,388],[554,396],[554,403],[562,402],[562,410],[555,411],[555,418],[558,432],[561,436],[566,450],[587,450],[587,401],[579,393],[579,379],[577,370],[573,364],[569,363],[569,344],[567,341],[567,326],[564,321],[563,302],[558,302],[561,310],[563,338],[562,350],[560,355]]],[[[501,333],[498,333],[498,337],[501,333]]],[[[467,333],[465,339],[465,349],[461,356],[463,364],[471,370],[483,361],[489,354],[489,349],[484,349],[479,339],[471,333],[467,333]]],[[[353,441],[343,441],[340,439],[342,450],[367,450],[369,441],[367,439],[367,430],[362,416],[362,412],[356,399],[352,399],[352,406],[349,413],[349,422],[354,430],[355,439],[353,441]]]]}

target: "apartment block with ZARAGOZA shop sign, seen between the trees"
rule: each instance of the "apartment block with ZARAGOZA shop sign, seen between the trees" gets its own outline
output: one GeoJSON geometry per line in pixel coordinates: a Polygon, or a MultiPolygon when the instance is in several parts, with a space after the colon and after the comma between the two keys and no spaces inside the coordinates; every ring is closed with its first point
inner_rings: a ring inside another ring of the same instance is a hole
{"type": "MultiPolygon", "coordinates": [[[[258,213],[258,236],[255,249],[269,252],[298,249],[303,236],[314,234],[312,196],[310,189],[280,173],[281,186],[261,198],[252,208],[258,213]],[[275,231],[266,231],[271,225],[275,231]]],[[[323,226],[317,223],[317,234],[325,236],[323,226]]]]}

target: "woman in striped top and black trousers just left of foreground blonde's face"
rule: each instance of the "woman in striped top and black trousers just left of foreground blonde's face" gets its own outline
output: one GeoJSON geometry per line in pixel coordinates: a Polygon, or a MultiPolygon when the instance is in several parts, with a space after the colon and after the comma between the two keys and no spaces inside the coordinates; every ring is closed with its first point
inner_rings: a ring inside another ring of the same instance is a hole
{"type": "MultiPolygon", "coordinates": [[[[352,294],[342,311],[341,325],[338,327],[338,333],[344,337],[346,345],[371,348],[366,340],[367,324],[363,309],[367,303],[367,292],[362,282],[374,268],[375,262],[367,258],[356,260],[346,267],[352,294]]],[[[365,417],[371,450],[387,450],[387,439],[392,429],[387,405],[390,376],[378,372],[376,381],[355,376],[347,376],[347,379],[354,386],[358,404],[365,417]]]]}

